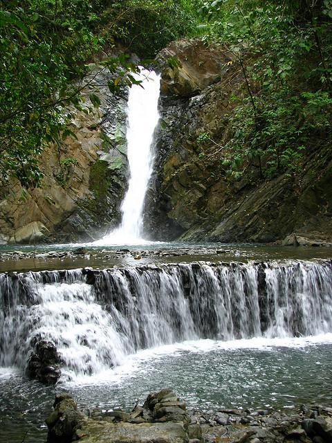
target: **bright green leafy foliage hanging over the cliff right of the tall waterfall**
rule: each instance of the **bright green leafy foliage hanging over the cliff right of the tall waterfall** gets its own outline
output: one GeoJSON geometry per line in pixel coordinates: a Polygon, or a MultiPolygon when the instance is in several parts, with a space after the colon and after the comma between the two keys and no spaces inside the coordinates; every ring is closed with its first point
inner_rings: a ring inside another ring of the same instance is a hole
{"type": "Polygon", "coordinates": [[[205,39],[222,42],[245,91],[230,116],[222,163],[239,179],[301,168],[313,138],[331,138],[331,0],[205,1],[205,39]]]}

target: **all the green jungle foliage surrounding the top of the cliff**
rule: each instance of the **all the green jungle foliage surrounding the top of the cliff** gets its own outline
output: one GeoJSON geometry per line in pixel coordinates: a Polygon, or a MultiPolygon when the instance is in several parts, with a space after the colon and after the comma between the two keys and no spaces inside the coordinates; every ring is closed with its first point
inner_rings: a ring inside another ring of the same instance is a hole
{"type": "Polygon", "coordinates": [[[242,70],[220,151],[228,176],[296,172],[331,141],[331,22],[332,0],[0,0],[0,183],[40,186],[44,147],[75,136],[68,109],[100,104],[83,94],[98,69],[116,93],[136,82],[127,54],[192,35],[221,42],[242,70]],[[105,57],[113,48],[121,55],[105,57]]]}

